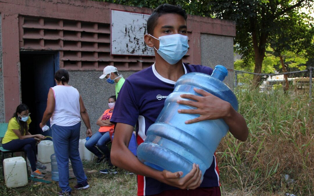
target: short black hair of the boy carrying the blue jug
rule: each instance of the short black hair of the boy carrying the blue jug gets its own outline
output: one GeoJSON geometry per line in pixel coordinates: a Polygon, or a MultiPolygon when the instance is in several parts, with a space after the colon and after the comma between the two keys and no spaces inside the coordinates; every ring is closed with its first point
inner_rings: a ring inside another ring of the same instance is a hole
{"type": "Polygon", "coordinates": [[[170,5],[170,4],[162,4],[158,6],[152,14],[150,14],[148,20],[147,20],[147,33],[148,34],[153,34],[154,33],[154,28],[157,25],[157,20],[158,18],[167,13],[176,13],[181,15],[185,20],[187,20],[187,13],[183,8],[181,8],[180,5],[170,5]]]}

